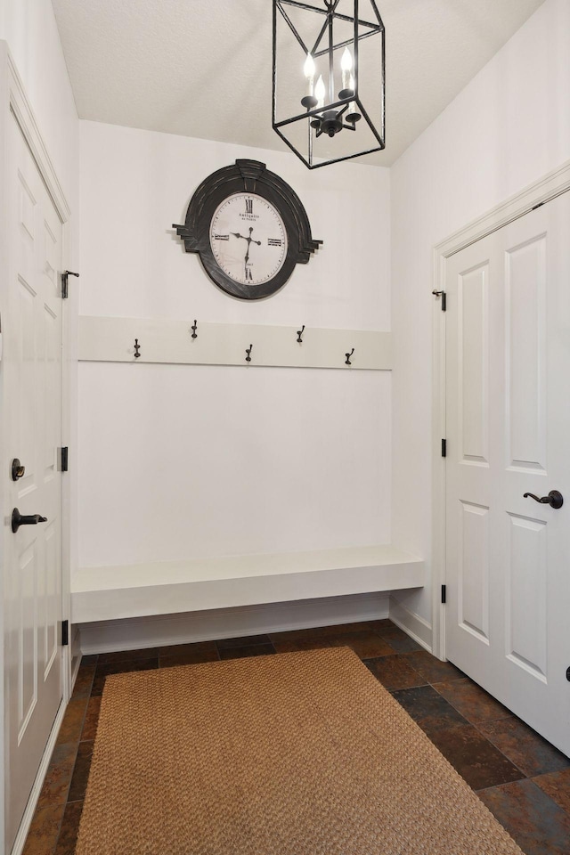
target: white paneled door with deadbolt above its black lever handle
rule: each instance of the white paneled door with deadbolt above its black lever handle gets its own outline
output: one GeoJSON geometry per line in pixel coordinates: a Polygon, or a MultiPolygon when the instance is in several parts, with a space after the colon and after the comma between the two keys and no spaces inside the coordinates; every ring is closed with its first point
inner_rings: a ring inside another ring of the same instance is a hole
{"type": "Polygon", "coordinates": [[[62,698],[61,220],[11,114],[2,326],[6,851],[62,698]],[[12,460],[25,468],[12,480],[12,460]],[[45,522],[12,532],[12,509],[45,522]]]}

